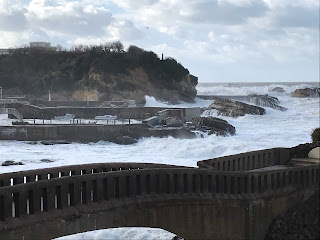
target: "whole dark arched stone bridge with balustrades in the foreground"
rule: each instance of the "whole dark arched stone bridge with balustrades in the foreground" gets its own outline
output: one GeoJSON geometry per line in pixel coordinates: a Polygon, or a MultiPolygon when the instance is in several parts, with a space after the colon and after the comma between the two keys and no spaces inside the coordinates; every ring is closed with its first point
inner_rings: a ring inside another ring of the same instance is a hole
{"type": "Polygon", "coordinates": [[[0,239],[157,227],[185,239],[263,239],[272,219],[319,189],[319,165],[275,148],[199,168],[104,163],[0,175],[0,239]],[[284,166],[285,165],[285,166],[284,166]]]}

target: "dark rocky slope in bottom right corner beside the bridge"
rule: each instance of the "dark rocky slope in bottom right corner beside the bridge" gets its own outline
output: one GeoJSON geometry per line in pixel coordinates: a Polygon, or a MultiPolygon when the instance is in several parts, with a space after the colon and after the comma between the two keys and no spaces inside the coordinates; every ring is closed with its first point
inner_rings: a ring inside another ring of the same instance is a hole
{"type": "Polygon", "coordinates": [[[276,217],[269,227],[265,240],[319,239],[319,199],[318,191],[305,202],[276,217]]]}

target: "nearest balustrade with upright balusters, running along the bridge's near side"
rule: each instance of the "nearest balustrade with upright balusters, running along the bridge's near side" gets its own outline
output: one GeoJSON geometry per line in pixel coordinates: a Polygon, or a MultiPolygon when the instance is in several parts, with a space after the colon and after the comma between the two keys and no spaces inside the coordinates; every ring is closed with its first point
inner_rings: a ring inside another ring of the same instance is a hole
{"type": "MultiPolygon", "coordinates": [[[[319,189],[319,167],[272,172],[219,172],[210,169],[154,168],[76,175],[0,188],[0,222],[137,196],[184,195],[258,199],[319,189]]],[[[1,224],[0,224],[1,226],[1,224]]]]}

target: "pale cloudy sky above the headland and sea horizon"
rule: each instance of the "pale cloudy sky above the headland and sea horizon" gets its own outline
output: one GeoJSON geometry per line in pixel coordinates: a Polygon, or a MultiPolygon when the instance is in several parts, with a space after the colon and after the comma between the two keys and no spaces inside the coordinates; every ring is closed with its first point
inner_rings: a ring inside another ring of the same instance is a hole
{"type": "Polygon", "coordinates": [[[319,81],[319,0],[0,0],[0,48],[120,40],[199,82],[319,81]]]}

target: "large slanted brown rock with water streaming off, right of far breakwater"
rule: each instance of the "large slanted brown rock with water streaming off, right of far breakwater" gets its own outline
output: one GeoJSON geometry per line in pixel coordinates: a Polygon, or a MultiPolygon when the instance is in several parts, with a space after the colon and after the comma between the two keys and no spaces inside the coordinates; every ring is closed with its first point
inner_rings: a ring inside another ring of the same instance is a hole
{"type": "Polygon", "coordinates": [[[214,102],[206,110],[217,110],[218,115],[239,117],[246,114],[263,115],[265,110],[243,102],[215,97],[214,102]]]}

